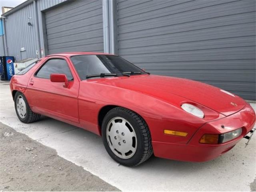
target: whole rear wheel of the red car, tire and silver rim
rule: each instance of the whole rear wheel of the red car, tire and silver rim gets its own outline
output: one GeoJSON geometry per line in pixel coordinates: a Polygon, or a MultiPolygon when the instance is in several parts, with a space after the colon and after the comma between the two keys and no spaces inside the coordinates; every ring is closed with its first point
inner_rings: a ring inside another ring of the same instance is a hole
{"type": "Polygon", "coordinates": [[[32,112],[24,94],[21,92],[16,92],[14,96],[14,105],[16,114],[21,122],[32,123],[39,120],[40,114],[32,112]]]}

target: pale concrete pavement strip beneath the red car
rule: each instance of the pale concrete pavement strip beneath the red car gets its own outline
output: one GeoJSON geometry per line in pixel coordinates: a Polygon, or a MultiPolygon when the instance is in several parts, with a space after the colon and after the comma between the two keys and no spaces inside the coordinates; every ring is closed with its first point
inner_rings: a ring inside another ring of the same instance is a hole
{"type": "MultiPolygon", "coordinates": [[[[255,104],[251,104],[256,109],[255,104]]],[[[203,163],[152,157],[135,168],[119,166],[99,136],[43,117],[23,124],[16,117],[8,83],[0,83],[0,122],[55,149],[58,156],[123,191],[255,191],[256,136],[245,148],[242,139],[219,158],[203,163]]],[[[2,170],[1,170],[2,171],[2,170]]]]}

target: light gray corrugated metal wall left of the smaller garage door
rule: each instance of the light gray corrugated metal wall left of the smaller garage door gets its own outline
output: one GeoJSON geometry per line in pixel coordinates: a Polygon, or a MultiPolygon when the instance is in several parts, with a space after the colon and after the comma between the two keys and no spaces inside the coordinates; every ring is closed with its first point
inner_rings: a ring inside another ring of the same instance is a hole
{"type": "MultiPolygon", "coordinates": [[[[42,16],[41,10],[47,9],[51,6],[64,2],[65,0],[38,0],[38,21],[40,31],[41,48],[44,49],[43,44],[43,30],[42,30],[42,16]]],[[[36,15],[33,3],[28,6],[10,14],[6,19],[6,31],[8,34],[7,45],[8,53],[14,56],[16,60],[24,58],[36,58],[37,41],[36,41],[36,15]],[[29,19],[30,18],[30,19],[29,19]],[[32,26],[28,26],[28,22],[32,26]],[[25,52],[21,52],[21,48],[25,48],[25,52]]],[[[38,50],[40,51],[40,50],[38,50]]]]}

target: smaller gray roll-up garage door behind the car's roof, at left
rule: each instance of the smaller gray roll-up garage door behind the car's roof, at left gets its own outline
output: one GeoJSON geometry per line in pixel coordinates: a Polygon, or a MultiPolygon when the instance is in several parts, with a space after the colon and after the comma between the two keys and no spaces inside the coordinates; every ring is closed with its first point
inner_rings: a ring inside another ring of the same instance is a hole
{"type": "Polygon", "coordinates": [[[45,13],[48,54],[103,52],[101,0],[66,2],[45,13]]]}

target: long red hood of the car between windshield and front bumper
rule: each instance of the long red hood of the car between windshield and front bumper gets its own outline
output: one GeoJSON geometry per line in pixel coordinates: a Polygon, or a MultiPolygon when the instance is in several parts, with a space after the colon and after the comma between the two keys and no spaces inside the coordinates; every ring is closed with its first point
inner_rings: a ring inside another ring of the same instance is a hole
{"type": "Polygon", "coordinates": [[[133,75],[130,77],[100,78],[100,84],[116,86],[141,92],[155,98],[172,103],[170,94],[176,94],[215,110],[225,116],[241,110],[246,102],[220,88],[184,78],[158,75],[133,75]]]}

